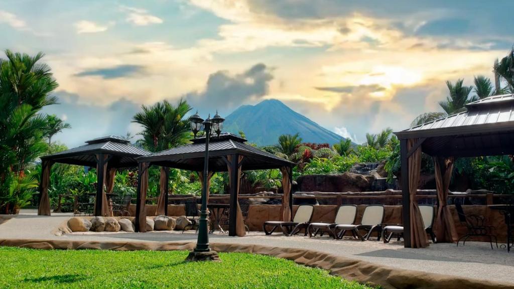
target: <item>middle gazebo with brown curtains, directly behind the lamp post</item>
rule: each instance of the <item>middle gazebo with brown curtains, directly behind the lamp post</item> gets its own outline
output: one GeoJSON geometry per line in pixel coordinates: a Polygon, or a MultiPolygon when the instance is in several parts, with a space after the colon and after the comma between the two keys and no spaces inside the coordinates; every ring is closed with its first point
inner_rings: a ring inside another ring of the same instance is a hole
{"type": "MultiPolygon", "coordinates": [[[[136,230],[145,231],[145,200],[148,190],[148,168],[152,165],[165,168],[164,177],[161,174],[161,191],[157,200],[157,211],[166,214],[168,207],[168,168],[196,171],[200,180],[208,178],[208,186],[214,172],[228,172],[230,185],[229,235],[243,236],[244,224],[241,209],[237,200],[241,172],[243,170],[280,169],[282,172],[282,187],[284,202],[282,204],[283,219],[291,218],[292,199],[290,197],[292,183],[292,167],[295,165],[286,159],[252,147],[245,143],[247,140],[231,133],[222,133],[219,137],[211,137],[209,143],[209,173],[203,175],[205,137],[191,140],[189,145],[164,150],[137,158],[139,176],[136,204],[136,230]],[[165,179],[166,181],[162,181],[165,179]],[[239,215],[239,217],[238,217],[239,215]]],[[[162,170],[161,170],[162,171],[162,170]]],[[[203,183],[203,182],[200,182],[203,183]]],[[[209,192],[209,188],[207,188],[209,192]]],[[[208,195],[207,195],[208,200],[208,195]]]]}

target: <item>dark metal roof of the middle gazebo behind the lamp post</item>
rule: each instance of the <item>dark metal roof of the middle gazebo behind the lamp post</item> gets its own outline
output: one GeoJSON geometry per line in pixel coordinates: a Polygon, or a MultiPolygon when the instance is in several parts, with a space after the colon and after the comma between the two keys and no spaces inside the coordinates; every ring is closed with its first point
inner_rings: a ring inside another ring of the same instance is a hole
{"type": "MultiPolygon", "coordinates": [[[[154,165],[201,171],[204,167],[205,137],[191,140],[189,145],[160,151],[157,153],[138,157],[139,162],[151,162],[154,165]]],[[[243,155],[243,170],[276,169],[291,167],[293,162],[247,145],[247,140],[231,133],[222,133],[219,137],[213,136],[209,142],[209,171],[226,172],[227,155],[243,155]]]]}

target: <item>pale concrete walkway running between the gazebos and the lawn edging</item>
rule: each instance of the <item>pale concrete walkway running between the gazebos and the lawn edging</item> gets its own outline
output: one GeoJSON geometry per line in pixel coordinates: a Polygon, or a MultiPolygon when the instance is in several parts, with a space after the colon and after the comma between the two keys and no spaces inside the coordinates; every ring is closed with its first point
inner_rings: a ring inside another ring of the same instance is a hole
{"type": "MultiPolygon", "coordinates": [[[[71,214],[37,216],[33,210],[23,210],[20,215],[0,225],[0,239],[54,239],[81,241],[196,241],[194,232],[147,232],[147,233],[72,233],[56,236],[56,228],[71,214]]],[[[489,243],[467,242],[466,246],[441,243],[425,249],[403,248],[403,243],[383,244],[376,241],[332,240],[328,237],[285,237],[282,234],[265,236],[263,232],[251,232],[245,237],[229,237],[225,234],[209,235],[211,243],[241,243],[273,247],[315,249],[334,255],[365,260],[402,269],[428,273],[460,276],[473,279],[510,282],[514,287],[514,251],[491,250],[489,243]]]]}

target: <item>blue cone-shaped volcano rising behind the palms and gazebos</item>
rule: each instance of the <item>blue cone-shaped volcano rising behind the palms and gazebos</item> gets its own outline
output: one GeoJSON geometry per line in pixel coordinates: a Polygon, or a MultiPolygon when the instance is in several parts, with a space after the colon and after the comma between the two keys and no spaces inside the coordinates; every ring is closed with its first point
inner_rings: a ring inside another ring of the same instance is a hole
{"type": "Polygon", "coordinates": [[[299,133],[303,142],[330,145],[344,139],[276,99],[240,106],[227,116],[224,130],[233,134],[243,131],[250,142],[260,146],[276,145],[282,134],[299,133]]]}

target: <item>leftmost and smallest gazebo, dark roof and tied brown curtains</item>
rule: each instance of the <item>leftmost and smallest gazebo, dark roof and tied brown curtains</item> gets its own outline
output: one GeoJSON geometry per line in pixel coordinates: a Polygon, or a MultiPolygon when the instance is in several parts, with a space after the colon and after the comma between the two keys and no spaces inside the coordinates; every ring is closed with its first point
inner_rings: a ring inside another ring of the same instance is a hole
{"type": "Polygon", "coordinates": [[[116,170],[136,167],[137,157],[150,154],[149,151],[134,147],[130,141],[114,135],[91,139],[86,143],[87,145],[81,147],[41,157],[42,173],[38,215],[50,215],[48,186],[50,169],[56,162],[97,168],[95,215],[105,216],[108,214],[106,193],[111,193],[113,190],[116,170]]]}

